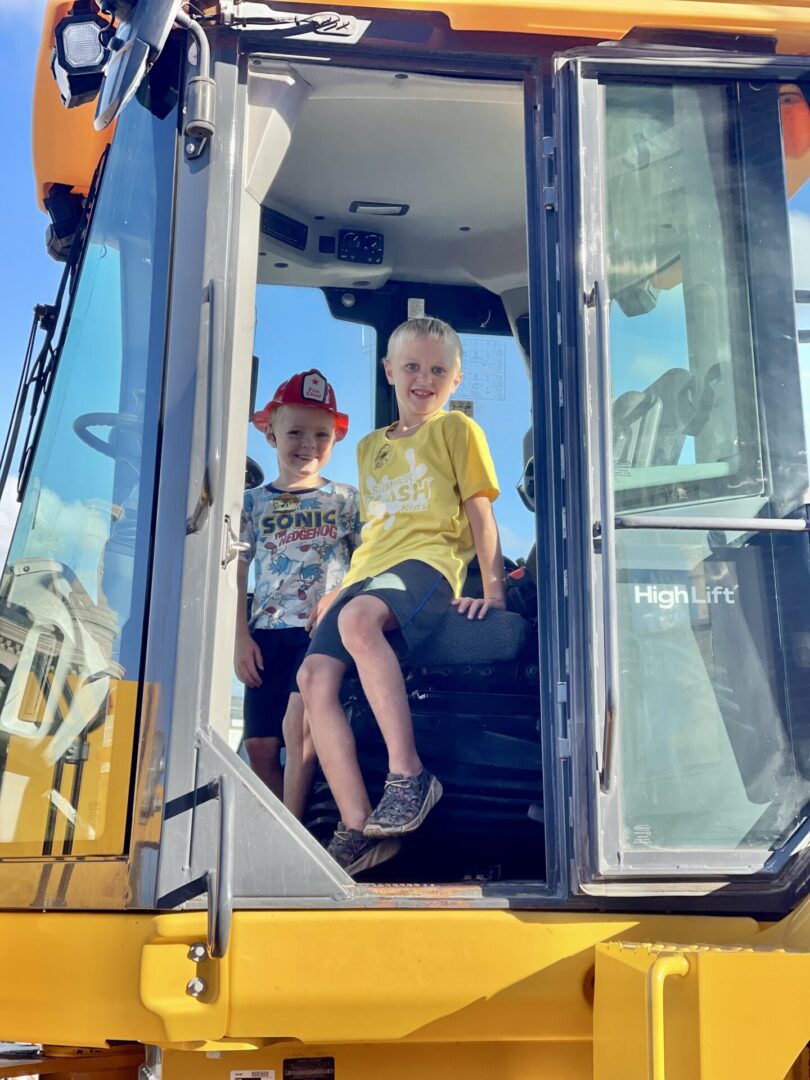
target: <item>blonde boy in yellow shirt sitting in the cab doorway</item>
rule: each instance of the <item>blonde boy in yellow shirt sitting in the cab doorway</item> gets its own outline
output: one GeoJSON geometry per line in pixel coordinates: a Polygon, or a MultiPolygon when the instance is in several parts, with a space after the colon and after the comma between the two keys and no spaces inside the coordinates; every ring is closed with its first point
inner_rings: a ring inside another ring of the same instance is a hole
{"type": "Polygon", "coordinates": [[[384,369],[399,420],[357,446],[360,546],[342,588],[322,602],[298,686],[341,822],[329,853],[350,874],[376,866],[418,828],[442,796],[423,768],[400,667],[453,604],[469,619],[505,607],[492,501],[498,481],[486,437],[445,411],[461,381],[461,341],[438,319],[411,319],[388,343],[384,369]],[[460,597],[477,555],[484,597],[460,597]],[[324,610],[325,609],[325,613],[324,610]],[[372,810],[340,685],[354,663],[388,750],[389,774],[372,810]]]}

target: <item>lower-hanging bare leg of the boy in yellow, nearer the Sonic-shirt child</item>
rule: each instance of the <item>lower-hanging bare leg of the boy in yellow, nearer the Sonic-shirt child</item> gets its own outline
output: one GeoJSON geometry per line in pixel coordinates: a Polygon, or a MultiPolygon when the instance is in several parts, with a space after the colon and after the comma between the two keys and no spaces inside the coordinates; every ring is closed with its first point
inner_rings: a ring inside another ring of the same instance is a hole
{"type": "Polygon", "coordinates": [[[298,686],[309,716],[315,752],[340,819],[348,828],[362,829],[372,804],[357,765],[354,735],[340,704],[346,664],[315,652],[298,670],[298,686]]]}

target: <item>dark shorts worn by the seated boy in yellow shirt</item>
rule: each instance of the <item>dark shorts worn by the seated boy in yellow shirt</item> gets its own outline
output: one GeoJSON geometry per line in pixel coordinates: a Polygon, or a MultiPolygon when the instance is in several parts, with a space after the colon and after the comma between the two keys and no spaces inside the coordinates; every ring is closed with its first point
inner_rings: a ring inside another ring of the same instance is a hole
{"type": "Polygon", "coordinates": [[[443,573],[409,558],[382,573],[349,585],[321,620],[309,647],[311,653],[334,657],[351,667],[354,661],[343,648],[338,629],[338,616],[355,596],[378,596],[390,608],[399,627],[387,633],[400,659],[404,659],[436,627],[453,599],[453,589],[443,573]]]}

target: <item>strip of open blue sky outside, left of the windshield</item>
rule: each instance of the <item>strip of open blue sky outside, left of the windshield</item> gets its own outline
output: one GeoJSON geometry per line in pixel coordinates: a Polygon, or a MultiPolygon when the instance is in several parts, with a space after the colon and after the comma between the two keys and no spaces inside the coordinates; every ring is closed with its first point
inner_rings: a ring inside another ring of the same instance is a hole
{"type": "MultiPolygon", "coordinates": [[[[0,0],[0,100],[3,103],[3,244],[0,255],[0,430],[9,423],[33,305],[50,302],[60,265],[45,252],[48,218],[37,204],[31,165],[31,95],[42,0],[0,0]]],[[[9,525],[0,507],[0,549],[9,525]]]]}

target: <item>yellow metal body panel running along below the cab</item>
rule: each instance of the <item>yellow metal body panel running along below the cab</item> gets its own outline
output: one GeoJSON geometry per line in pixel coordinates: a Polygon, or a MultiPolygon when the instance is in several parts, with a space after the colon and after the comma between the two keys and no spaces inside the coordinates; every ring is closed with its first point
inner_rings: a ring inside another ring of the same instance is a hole
{"type": "Polygon", "coordinates": [[[334,1055],[345,1080],[642,1080],[662,955],[688,972],[663,985],[669,1080],[782,1080],[810,1038],[810,901],[765,930],[699,916],[243,912],[227,957],[195,963],[204,935],[203,913],[0,915],[15,972],[0,981],[0,1039],[183,1051],[166,1080],[280,1070],[291,1054],[334,1055]]]}

